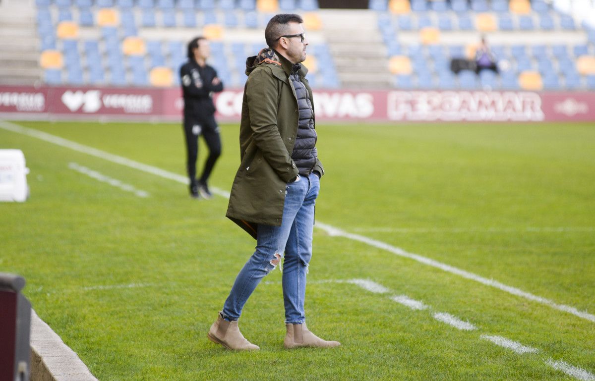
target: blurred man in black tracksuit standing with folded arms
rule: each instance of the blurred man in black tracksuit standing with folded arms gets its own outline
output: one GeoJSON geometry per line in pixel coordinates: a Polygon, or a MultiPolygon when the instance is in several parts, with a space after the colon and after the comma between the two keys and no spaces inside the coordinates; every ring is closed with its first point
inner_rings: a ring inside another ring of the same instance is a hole
{"type": "Polygon", "coordinates": [[[180,68],[180,81],[184,94],[184,135],[186,136],[187,169],[190,178],[190,195],[205,199],[212,197],[207,186],[209,175],[221,155],[221,137],[215,121],[215,105],[212,93],[221,92],[223,83],[217,71],[206,64],[210,53],[209,43],[204,37],[196,37],[188,44],[188,62],[180,68]],[[198,158],[198,137],[205,138],[209,156],[201,177],[196,179],[198,158]]]}

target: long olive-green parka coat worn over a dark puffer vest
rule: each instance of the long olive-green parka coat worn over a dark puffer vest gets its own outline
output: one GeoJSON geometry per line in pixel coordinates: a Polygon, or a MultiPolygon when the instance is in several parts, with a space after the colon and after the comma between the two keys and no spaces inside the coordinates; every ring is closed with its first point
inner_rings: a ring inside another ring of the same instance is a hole
{"type": "MultiPolygon", "coordinates": [[[[257,225],[281,226],[285,187],[297,176],[292,160],[299,111],[289,78],[292,63],[272,49],[246,59],[240,122],[240,167],[231,186],[226,216],[256,238],[257,225]]],[[[303,65],[298,74],[308,90],[303,65]]],[[[322,176],[317,160],[313,171],[322,176]]]]}

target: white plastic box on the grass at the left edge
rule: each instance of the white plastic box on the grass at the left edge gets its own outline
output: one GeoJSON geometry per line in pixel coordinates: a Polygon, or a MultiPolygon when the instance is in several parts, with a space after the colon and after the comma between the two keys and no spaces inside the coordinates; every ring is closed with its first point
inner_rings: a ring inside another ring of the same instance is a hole
{"type": "Polygon", "coordinates": [[[0,201],[23,202],[29,198],[23,151],[0,149],[0,201]]]}

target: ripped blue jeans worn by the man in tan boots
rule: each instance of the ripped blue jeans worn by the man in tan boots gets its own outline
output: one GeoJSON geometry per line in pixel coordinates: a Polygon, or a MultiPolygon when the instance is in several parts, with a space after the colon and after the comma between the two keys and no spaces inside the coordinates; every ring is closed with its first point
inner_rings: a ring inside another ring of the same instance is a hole
{"type": "Polygon", "coordinates": [[[315,174],[300,176],[285,188],[285,204],[281,226],[258,225],[256,250],[243,269],[223,306],[221,314],[226,320],[237,320],[242,308],[262,278],[281,266],[283,260],[283,301],[285,322],[302,324],[306,296],[306,273],[312,257],[312,229],[314,204],[320,179],[315,174]]]}

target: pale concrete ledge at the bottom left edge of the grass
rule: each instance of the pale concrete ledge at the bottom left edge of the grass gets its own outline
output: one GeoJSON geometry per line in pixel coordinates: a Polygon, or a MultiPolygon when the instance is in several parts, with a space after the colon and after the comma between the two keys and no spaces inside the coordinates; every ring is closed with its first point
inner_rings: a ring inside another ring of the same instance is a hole
{"type": "Polygon", "coordinates": [[[31,310],[31,381],[98,381],[79,356],[31,310]]]}

